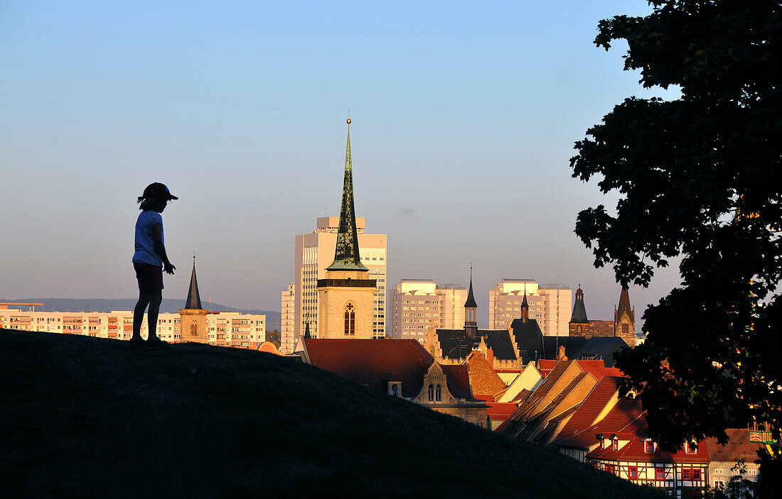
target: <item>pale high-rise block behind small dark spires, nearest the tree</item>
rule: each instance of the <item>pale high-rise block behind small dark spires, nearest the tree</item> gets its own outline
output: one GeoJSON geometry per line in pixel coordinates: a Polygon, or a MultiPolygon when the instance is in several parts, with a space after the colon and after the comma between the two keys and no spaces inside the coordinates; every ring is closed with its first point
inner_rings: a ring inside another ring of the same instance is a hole
{"type": "Polygon", "coordinates": [[[538,284],[534,279],[503,279],[489,292],[489,329],[500,330],[521,317],[524,294],[529,319],[545,336],[568,336],[573,291],[565,284],[538,284]]]}

